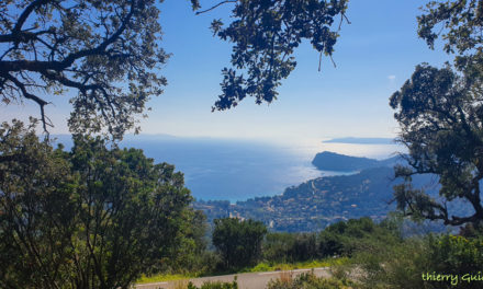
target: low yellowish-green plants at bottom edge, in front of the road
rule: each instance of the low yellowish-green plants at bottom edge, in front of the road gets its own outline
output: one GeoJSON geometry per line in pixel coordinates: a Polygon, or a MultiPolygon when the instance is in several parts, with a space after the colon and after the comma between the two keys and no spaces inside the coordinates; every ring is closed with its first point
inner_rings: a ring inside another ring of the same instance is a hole
{"type": "Polygon", "coordinates": [[[352,286],[353,282],[348,279],[318,278],[313,273],[304,273],[293,279],[291,276],[271,279],[267,289],[344,289],[352,286]]]}

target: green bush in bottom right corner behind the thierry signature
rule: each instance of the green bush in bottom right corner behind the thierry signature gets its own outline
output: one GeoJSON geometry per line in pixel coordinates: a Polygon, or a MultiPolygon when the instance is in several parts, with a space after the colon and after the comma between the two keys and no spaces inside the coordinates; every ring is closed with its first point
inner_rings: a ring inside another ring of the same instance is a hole
{"type": "Polygon", "coordinates": [[[363,288],[481,288],[480,281],[468,282],[462,277],[481,271],[483,239],[412,238],[397,245],[358,251],[353,263],[362,270],[363,288]],[[458,284],[424,280],[426,274],[458,276],[458,284]]]}

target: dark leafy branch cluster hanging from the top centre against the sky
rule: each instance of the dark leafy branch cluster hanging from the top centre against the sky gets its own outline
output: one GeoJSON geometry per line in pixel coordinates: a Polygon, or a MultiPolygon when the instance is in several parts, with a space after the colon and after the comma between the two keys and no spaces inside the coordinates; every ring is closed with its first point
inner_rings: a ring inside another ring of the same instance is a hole
{"type": "Polygon", "coordinates": [[[214,35],[234,43],[233,68],[222,70],[222,94],[213,109],[228,109],[246,96],[255,96],[257,104],[276,100],[280,81],[296,66],[292,55],[303,39],[310,41],[321,57],[332,56],[347,2],[234,0],[214,5],[235,3],[229,25],[222,20],[212,22],[214,35]],[[340,23],[335,25],[338,16],[340,23]]]}

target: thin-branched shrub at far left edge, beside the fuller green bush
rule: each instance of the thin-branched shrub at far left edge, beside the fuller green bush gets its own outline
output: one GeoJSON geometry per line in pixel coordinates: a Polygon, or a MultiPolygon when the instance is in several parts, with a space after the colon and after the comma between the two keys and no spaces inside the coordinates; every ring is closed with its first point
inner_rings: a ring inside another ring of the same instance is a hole
{"type": "Polygon", "coordinates": [[[2,288],[52,288],[71,274],[76,180],[63,153],[38,141],[34,125],[0,127],[2,288]]]}

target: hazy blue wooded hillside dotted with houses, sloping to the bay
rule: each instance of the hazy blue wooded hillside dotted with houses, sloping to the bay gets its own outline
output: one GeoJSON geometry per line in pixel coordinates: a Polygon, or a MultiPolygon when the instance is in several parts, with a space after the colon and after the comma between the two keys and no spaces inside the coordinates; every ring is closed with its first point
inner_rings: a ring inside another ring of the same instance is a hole
{"type": "MultiPolygon", "coordinates": [[[[415,176],[415,185],[437,182],[433,175],[415,176]]],[[[362,170],[352,175],[327,176],[289,187],[280,196],[257,197],[246,201],[194,203],[194,208],[206,213],[209,222],[216,218],[237,216],[263,221],[274,231],[312,232],[330,223],[369,216],[382,220],[395,209],[392,186],[394,170],[389,166],[362,170]]],[[[430,187],[431,188],[431,187],[430,187]]],[[[436,194],[437,186],[429,190],[436,194]]],[[[454,204],[454,210],[468,211],[464,203],[454,204]]]]}

